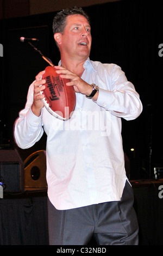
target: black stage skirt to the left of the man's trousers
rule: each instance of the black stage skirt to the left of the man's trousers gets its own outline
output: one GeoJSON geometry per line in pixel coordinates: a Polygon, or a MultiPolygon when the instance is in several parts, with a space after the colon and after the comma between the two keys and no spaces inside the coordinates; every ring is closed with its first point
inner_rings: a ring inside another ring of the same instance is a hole
{"type": "Polygon", "coordinates": [[[0,245],[48,245],[47,197],[0,199],[0,245]]]}

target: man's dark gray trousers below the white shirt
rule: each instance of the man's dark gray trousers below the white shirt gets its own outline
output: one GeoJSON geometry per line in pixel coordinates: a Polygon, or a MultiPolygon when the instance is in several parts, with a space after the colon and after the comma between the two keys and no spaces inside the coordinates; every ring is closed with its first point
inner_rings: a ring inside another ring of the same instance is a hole
{"type": "Polygon", "coordinates": [[[49,245],[138,245],[133,188],[126,181],[121,201],[57,210],[48,199],[49,245]]]}

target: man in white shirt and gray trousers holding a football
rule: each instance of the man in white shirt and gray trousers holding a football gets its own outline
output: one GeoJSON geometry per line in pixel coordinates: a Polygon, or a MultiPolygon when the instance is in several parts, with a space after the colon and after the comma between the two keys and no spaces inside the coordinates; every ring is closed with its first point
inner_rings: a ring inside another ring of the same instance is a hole
{"type": "Polygon", "coordinates": [[[21,148],[47,134],[49,244],[86,245],[94,236],[99,245],[137,245],[121,118],[140,115],[139,94],[119,66],[90,60],[91,27],[82,8],[58,13],[53,32],[61,56],[55,68],[76,90],[74,113],[62,121],[43,107],[41,71],[14,129],[21,148]]]}

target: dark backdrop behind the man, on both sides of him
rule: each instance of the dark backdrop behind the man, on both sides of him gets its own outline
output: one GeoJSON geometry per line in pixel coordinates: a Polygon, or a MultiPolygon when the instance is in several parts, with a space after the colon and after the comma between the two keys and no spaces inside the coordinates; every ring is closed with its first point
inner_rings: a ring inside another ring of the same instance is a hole
{"type": "MultiPolygon", "coordinates": [[[[162,39],[161,1],[118,1],[83,8],[91,17],[90,58],[120,65],[143,104],[133,121],[122,119],[124,152],[130,160],[131,179],[153,178],[153,167],[162,167],[162,39]],[[130,151],[134,148],[134,153],[130,151]]],[[[37,38],[35,45],[58,64],[52,22],[55,12],[0,20],[1,60],[1,148],[16,148],[12,130],[18,112],[24,108],[28,87],[48,65],[39,53],[20,37],[37,38]]],[[[66,142],[65,142],[66,143],[66,142]]],[[[46,148],[46,136],[34,147],[18,149],[22,159],[46,148]]],[[[98,149],[97,149],[98,150],[98,149]]],[[[118,149],[117,149],[118,150],[118,149]]]]}

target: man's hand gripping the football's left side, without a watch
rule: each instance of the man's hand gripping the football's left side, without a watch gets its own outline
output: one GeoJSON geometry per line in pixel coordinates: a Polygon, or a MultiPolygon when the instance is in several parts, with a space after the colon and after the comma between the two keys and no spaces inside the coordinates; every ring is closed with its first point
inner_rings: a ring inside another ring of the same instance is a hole
{"type": "Polygon", "coordinates": [[[46,83],[46,80],[41,80],[41,76],[45,74],[45,70],[41,71],[35,78],[34,82],[34,96],[33,96],[33,104],[31,106],[32,112],[37,115],[37,117],[41,114],[41,108],[44,106],[42,99],[45,97],[43,94],[40,94],[41,91],[45,89],[43,84],[46,83]]]}

